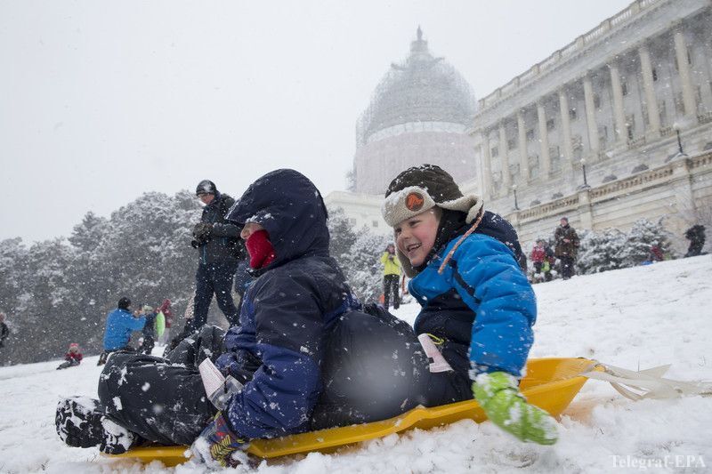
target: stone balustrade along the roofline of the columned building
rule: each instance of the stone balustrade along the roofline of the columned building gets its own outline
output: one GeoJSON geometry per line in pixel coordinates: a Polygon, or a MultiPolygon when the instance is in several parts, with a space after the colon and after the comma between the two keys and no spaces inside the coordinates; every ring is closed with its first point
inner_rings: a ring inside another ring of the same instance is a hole
{"type": "Polygon", "coordinates": [[[587,31],[587,33],[584,33],[581,36],[578,36],[570,44],[565,45],[562,49],[548,56],[545,60],[538,62],[527,71],[524,71],[522,74],[514,77],[514,79],[502,87],[499,87],[497,91],[492,92],[490,95],[478,100],[478,105],[480,106],[480,112],[478,112],[478,115],[484,108],[488,108],[490,105],[498,102],[498,100],[502,100],[506,97],[506,95],[514,92],[516,89],[519,89],[522,85],[525,85],[528,81],[530,81],[530,79],[533,79],[535,76],[538,76],[546,70],[553,68],[558,62],[561,62],[571,54],[578,52],[578,50],[583,49],[588,44],[591,44],[602,36],[605,36],[606,33],[611,31],[611,29],[627,23],[636,15],[640,14],[645,9],[650,8],[651,5],[659,3],[660,1],[662,0],[637,0],[633,4],[630,4],[625,10],[618,12],[607,20],[603,20],[603,22],[597,27],[587,31]]]}

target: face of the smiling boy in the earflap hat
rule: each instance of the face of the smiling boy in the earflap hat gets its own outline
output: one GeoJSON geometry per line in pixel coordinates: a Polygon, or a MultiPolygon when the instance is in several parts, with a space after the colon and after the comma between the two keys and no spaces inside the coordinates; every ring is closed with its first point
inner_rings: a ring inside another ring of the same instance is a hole
{"type": "Polygon", "coordinates": [[[395,245],[413,267],[418,267],[425,262],[425,257],[435,245],[440,219],[435,209],[428,209],[410,219],[401,221],[393,227],[395,245]]]}

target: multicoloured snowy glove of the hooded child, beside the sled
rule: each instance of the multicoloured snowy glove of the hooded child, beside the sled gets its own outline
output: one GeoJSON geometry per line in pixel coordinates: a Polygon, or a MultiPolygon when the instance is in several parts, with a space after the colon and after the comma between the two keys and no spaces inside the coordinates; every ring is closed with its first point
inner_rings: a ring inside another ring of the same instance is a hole
{"type": "Polygon", "coordinates": [[[200,436],[193,441],[190,451],[208,467],[236,467],[239,462],[232,458],[236,451],[247,447],[247,439],[239,438],[223,413],[218,412],[200,436]]]}

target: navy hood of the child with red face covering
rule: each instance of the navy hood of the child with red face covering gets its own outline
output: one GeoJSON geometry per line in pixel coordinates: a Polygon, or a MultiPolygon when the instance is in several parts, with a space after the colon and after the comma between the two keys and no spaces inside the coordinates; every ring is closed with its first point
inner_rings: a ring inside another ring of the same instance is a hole
{"type": "Polygon", "coordinates": [[[280,169],[252,183],[232,206],[227,220],[260,224],[270,235],[276,258],[267,268],[303,255],[328,255],[327,207],[319,189],[295,170],[280,169]]]}

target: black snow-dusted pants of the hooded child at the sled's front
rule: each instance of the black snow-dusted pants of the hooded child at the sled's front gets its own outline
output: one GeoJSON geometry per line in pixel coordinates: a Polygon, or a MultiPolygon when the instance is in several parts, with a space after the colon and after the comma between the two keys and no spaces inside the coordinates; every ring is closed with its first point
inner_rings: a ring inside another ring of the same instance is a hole
{"type": "Polygon", "coordinates": [[[190,445],[217,413],[206,397],[198,364],[223,352],[223,337],[223,329],[206,326],[166,358],[115,353],[99,377],[104,412],[146,441],[190,445]]]}

